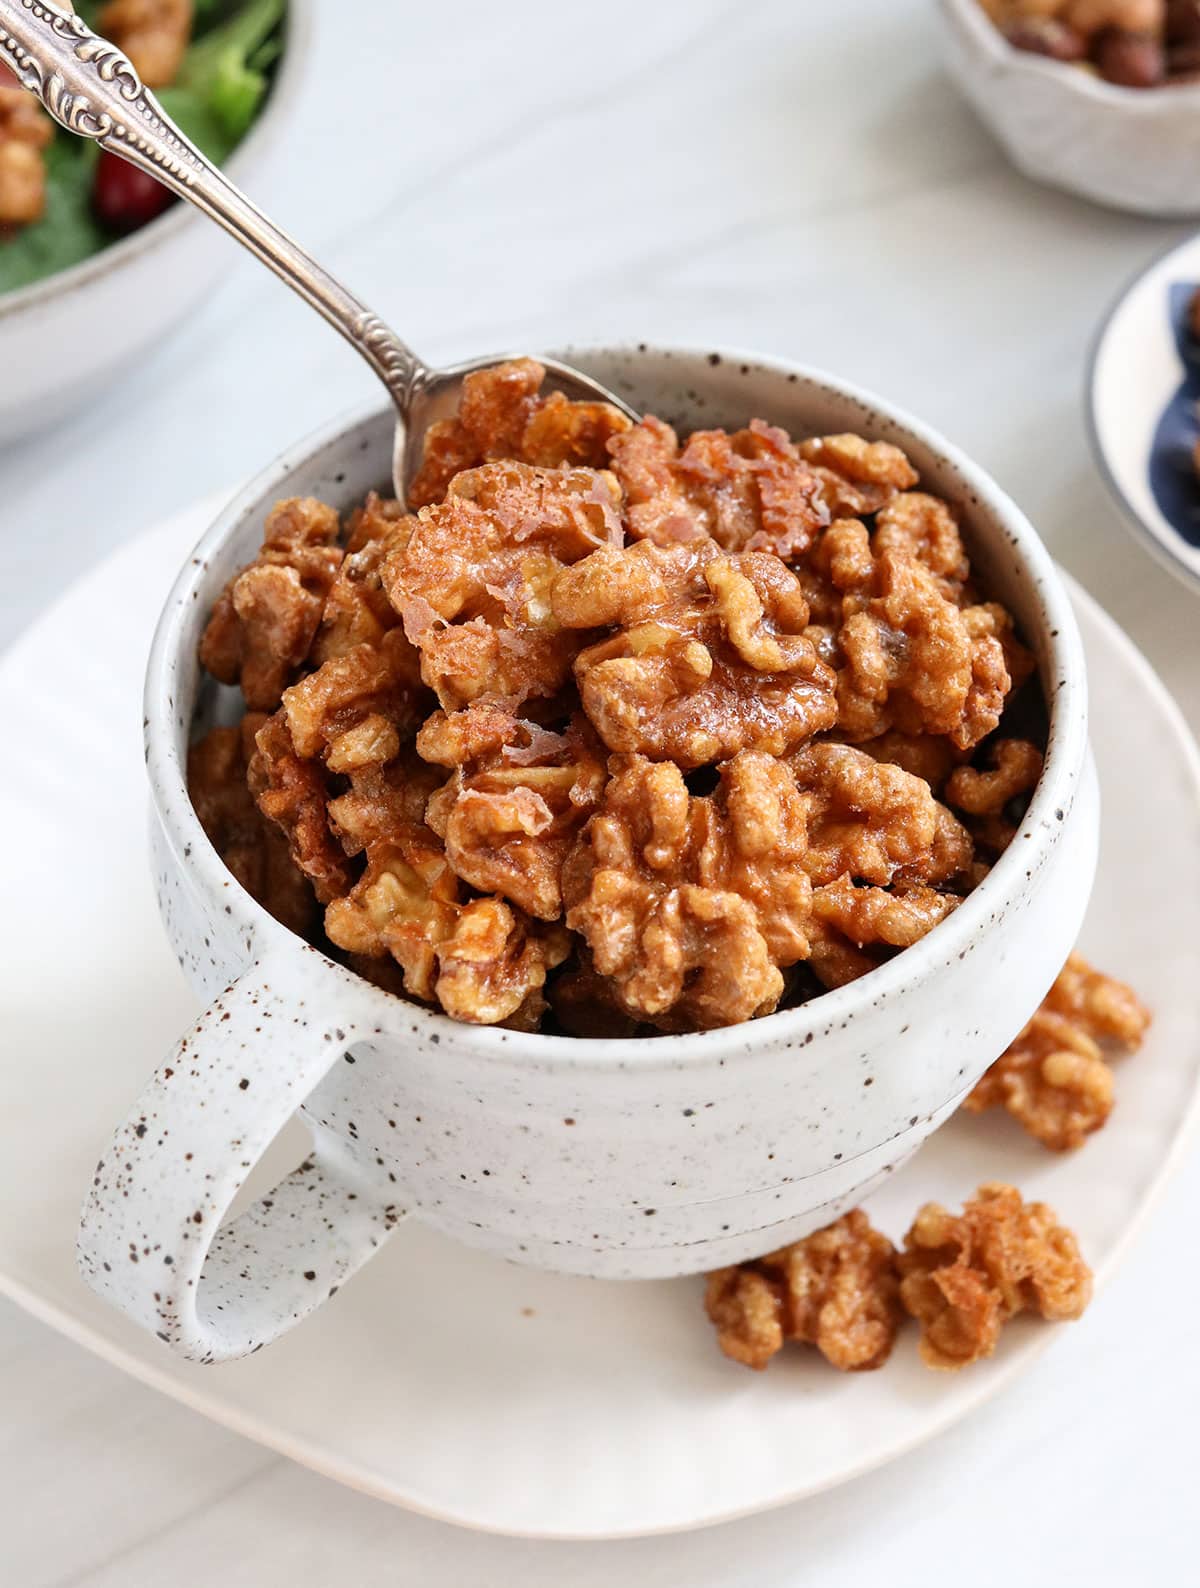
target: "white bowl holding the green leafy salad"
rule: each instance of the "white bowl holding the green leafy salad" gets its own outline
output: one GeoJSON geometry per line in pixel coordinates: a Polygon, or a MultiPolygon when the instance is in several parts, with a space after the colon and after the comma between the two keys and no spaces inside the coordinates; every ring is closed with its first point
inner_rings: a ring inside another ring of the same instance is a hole
{"type": "MultiPolygon", "coordinates": [[[[251,192],[294,113],[311,16],[313,0],[289,0],[270,98],[229,160],[230,175],[251,192]]],[[[0,445],[98,395],[211,291],[233,246],[190,205],[178,203],[70,270],[0,294],[0,445]]]]}

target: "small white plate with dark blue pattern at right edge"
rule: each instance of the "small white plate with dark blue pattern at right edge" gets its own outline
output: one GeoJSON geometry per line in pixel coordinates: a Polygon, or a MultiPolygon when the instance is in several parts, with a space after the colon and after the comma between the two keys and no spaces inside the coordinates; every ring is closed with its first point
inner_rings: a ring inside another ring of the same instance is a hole
{"type": "Polygon", "coordinates": [[[1187,300],[1200,237],[1160,254],[1105,318],[1087,370],[1097,462],[1130,527],[1176,578],[1200,589],[1200,343],[1187,300]]]}

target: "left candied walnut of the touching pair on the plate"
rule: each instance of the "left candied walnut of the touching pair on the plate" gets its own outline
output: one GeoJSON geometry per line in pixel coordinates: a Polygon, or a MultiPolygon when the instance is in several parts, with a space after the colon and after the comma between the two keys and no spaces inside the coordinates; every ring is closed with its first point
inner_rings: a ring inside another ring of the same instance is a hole
{"type": "Polygon", "coordinates": [[[784,1340],[816,1345],[841,1372],[883,1367],[903,1316],[895,1248],[860,1208],[779,1251],[708,1277],[717,1345],[762,1370],[784,1340]]]}

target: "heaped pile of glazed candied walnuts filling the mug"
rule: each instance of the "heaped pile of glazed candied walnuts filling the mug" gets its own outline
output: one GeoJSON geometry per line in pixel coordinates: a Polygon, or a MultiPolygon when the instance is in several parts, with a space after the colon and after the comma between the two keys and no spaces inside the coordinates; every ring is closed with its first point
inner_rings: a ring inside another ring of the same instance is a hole
{"type": "Polygon", "coordinates": [[[884,441],[681,445],[541,381],[471,375],[410,511],[271,511],[200,646],[248,707],[192,751],[200,819],[287,926],[463,1021],[694,1031],[863,975],[1041,772],[956,510],[884,441]]]}

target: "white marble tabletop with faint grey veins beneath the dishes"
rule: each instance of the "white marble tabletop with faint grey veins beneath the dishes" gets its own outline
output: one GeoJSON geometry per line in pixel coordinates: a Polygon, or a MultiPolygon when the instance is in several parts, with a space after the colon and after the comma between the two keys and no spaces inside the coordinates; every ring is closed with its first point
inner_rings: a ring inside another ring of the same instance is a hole
{"type": "MultiPolygon", "coordinates": [[[[1200,726],[1200,605],[1127,538],[1081,418],[1100,314],[1184,229],[1016,176],[943,78],[927,0],[611,0],[603,29],[552,0],[319,11],[324,81],[267,197],[424,353],[673,338],[873,386],[1010,488],[1200,726]]],[[[124,538],[371,395],[232,245],[229,265],[103,408],[0,453],[0,645],[124,538]]],[[[1197,1201],[1194,1156],[1070,1348],[913,1459],[783,1513],[610,1547],[392,1512],[5,1305],[0,1583],[1192,1580],[1197,1201]]]]}

